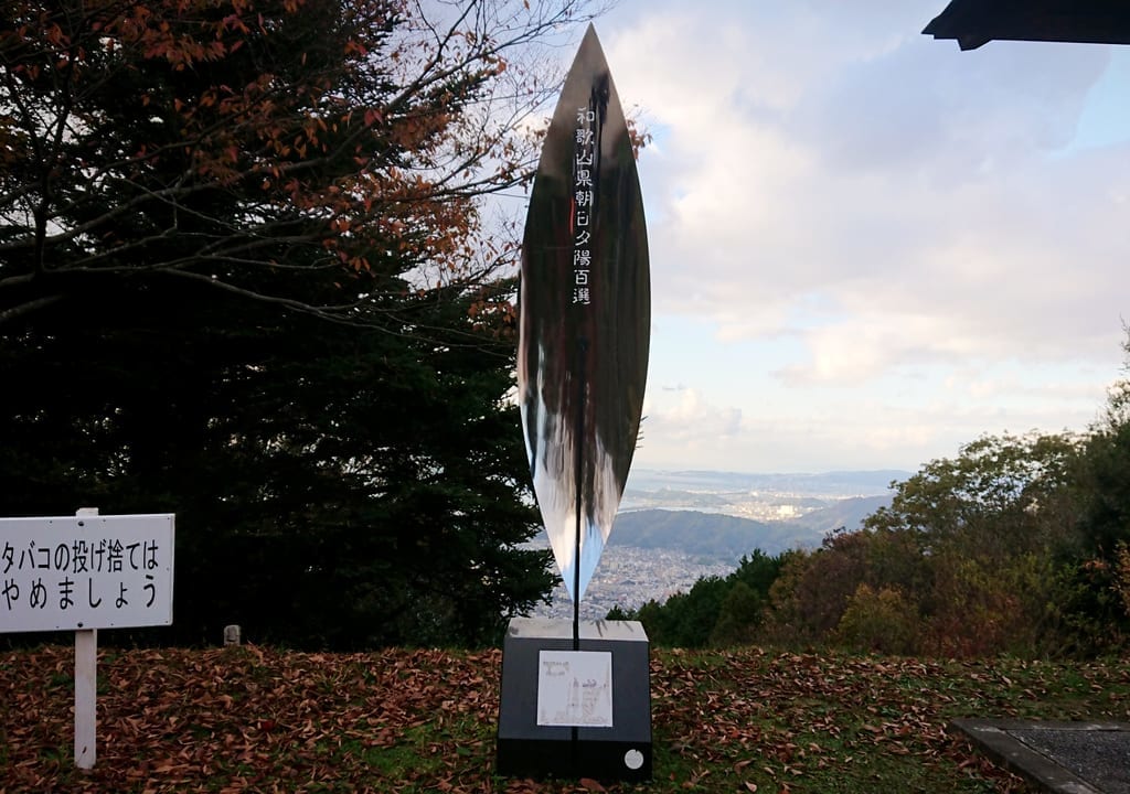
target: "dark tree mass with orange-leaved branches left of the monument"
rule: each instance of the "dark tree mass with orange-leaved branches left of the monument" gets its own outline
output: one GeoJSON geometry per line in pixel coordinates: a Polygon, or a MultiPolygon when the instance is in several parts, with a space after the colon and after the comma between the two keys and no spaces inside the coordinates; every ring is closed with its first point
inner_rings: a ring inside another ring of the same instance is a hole
{"type": "Polygon", "coordinates": [[[481,643],[542,597],[483,202],[582,6],[2,3],[0,515],[177,513],[176,642],[481,643]]]}

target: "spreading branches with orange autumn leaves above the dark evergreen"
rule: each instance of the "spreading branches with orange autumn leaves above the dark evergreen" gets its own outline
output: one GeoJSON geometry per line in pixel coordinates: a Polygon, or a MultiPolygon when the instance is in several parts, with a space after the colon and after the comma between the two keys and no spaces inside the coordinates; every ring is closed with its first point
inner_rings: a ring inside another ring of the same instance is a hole
{"type": "Polygon", "coordinates": [[[513,121],[545,91],[506,58],[576,14],[469,3],[427,18],[395,0],[6,11],[0,322],[127,278],[338,319],[386,289],[381,277],[483,278],[505,246],[477,199],[528,176],[534,150],[513,121]],[[311,299],[295,272],[333,273],[338,294],[311,299]]]}

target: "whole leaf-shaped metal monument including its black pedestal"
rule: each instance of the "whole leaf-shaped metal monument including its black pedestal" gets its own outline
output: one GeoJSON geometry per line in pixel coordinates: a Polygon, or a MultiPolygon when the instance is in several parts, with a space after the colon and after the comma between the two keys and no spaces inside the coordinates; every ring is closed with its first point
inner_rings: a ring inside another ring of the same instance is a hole
{"type": "Polygon", "coordinates": [[[632,142],[590,26],[530,195],[518,356],[533,489],[573,599],[573,625],[510,621],[502,775],[651,779],[647,635],[634,620],[582,627],[579,618],[640,433],[650,302],[632,142]]]}

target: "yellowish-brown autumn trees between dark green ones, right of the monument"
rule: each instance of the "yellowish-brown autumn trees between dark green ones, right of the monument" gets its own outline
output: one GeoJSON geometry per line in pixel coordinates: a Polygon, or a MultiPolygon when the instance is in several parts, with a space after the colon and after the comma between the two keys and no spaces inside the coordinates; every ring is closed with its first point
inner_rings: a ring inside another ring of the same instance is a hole
{"type": "Polygon", "coordinates": [[[768,634],[963,658],[1124,647],[1130,612],[1115,608],[1114,581],[1093,575],[1115,564],[1087,548],[1086,446],[984,437],[923,466],[862,530],[793,557],[774,583],[768,634]]]}

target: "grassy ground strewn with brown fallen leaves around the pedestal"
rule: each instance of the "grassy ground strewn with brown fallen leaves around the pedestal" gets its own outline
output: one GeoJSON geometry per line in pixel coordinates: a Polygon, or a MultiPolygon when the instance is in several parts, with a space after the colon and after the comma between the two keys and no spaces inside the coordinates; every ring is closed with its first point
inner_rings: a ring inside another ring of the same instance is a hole
{"type": "Polygon", "coordinates": [[[122,651],[98,762],[70,758],[70,648],[0,656],[0,793],[1028,792],[955,717],[1130,722],[1130,662],[653,653],[654,779],[498,777],[498,652],[122,651]],[[62,739],[61,739],[62,738],[62,739]]]}

